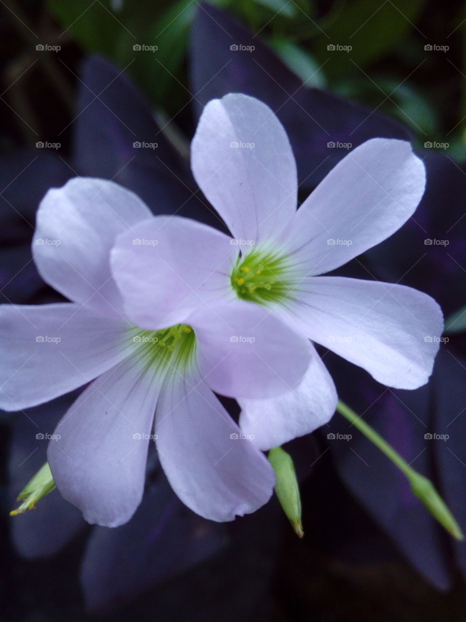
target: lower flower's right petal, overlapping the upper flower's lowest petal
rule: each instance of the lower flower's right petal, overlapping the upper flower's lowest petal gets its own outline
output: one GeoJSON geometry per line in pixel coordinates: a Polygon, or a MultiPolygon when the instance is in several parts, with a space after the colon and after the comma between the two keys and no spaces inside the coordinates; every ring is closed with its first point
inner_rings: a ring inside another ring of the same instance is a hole
{"type": "Polygon", "coordinates": [[[199,310],[187,321],[196,332],[203,378],[222,395],[281,395],[308,369],[309,341],[261,305],[236,300],[199,310]]]}

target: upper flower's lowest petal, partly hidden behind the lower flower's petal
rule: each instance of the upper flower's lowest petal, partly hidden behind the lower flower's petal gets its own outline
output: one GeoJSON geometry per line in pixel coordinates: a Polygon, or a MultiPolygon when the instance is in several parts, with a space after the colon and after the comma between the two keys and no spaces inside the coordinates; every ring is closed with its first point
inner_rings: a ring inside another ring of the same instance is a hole
{"type": "Polygon", "coordinates": [[[295,389],[273,399],[239,400],[239,425],[256,447],[265,451],[326,424],[337,401],[332,378],[314,351],[308,371],[295,389]]]}

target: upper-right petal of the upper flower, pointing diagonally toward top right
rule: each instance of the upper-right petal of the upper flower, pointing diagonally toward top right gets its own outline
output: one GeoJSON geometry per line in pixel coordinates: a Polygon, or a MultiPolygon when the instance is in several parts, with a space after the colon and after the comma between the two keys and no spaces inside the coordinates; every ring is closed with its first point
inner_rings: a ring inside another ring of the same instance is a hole
{"type": "Polygon", "coordinates": [[[406,141],[373,138],[319,183],[281,239],[307,274],[324,274],[389,238],[423,197],[423,162],[406,141]]]}

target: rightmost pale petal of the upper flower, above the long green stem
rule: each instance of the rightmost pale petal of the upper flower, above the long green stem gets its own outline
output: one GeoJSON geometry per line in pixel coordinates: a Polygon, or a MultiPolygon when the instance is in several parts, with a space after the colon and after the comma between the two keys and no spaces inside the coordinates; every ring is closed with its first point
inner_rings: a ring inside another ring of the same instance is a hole
{"type": "Polygon", "coordinates": [[[290,308],[313,341],[397,389],[426,384],[439,349],[442,311],[417,289],[343,277],[311,277],[290,308]]]}

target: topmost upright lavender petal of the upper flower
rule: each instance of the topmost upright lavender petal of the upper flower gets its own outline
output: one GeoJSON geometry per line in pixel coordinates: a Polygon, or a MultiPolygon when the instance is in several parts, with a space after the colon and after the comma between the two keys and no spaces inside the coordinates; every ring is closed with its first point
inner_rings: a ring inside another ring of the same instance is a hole
{"type": "Polygon", "coordinates": [[[209,101],[191,144],[191,168],[238,241],[275,238],[295,214],[290,141],[272,110],[254,97],[230,93],[209,101]]]}

